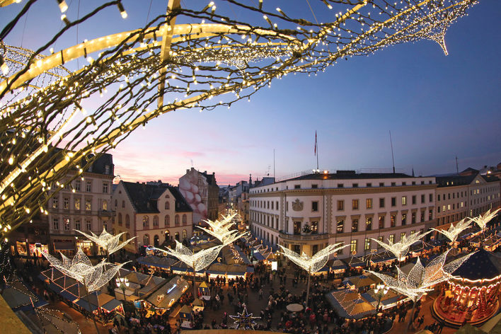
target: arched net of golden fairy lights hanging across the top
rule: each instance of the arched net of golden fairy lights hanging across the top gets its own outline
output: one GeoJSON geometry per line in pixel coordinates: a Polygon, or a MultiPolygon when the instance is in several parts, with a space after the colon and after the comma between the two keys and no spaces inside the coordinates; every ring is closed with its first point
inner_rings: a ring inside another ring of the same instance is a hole
{"type": "Polygon", "coordinates": [[[230,108],[274,79],[315,75],[340,59],[401,42],[434,40],[446,51],[447,28],[477,3],[325,0],[328,23],[294,17],[272,1],[211,1],[203,8],[193,3],[193,8],[173,6],[144,28],[54,50],[54,42],[70,28],[105,9],[115,7],[127,19],[127,8],[118,0],[76,20],[66,1],[57,0],[60,13],[54,19],[60,15],[64,25],[38,50],[4,44],[37,1],[21,1],[18,16],[0,32],[2,238],[36,214],[47,214],[50,196],[83,178],[96,154],[160,115],[230,108]],[[224,16],[218,6],[246,15],[224,16]],[[80,58],[84,67],[69,71],[69,62],[80,58]],[[98,106],[86,110],[90,98],[98,106]],[[73,177],[62,183],[69,173],[73,177]]]}

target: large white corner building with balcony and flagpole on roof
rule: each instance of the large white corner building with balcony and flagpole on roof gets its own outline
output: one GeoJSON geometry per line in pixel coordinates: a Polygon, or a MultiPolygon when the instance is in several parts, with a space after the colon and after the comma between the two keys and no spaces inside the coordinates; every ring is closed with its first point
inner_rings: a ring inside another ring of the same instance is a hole
{"type": "Polygon", "coordinates": [[[377,248],[370,238],[398,242],[436,226],[436,188],[434,177],[400,173],[304,175],[250,189],[251,231],[298,253],[342,242],[340,258],[362,256],[377,248]]]}

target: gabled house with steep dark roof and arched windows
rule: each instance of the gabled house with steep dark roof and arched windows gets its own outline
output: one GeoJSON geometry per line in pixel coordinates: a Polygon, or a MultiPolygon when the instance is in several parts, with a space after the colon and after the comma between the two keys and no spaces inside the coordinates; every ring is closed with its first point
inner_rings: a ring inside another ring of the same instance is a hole
{"type": "Polygon", "coordinates": [[[137,236],[125,250],[137,253],[141,246],[159,247],[192,236],[192,209],[172,185],[120,181],[113,191],[113,205],[113,232],[125,232],[123,240],[137,236]]]}

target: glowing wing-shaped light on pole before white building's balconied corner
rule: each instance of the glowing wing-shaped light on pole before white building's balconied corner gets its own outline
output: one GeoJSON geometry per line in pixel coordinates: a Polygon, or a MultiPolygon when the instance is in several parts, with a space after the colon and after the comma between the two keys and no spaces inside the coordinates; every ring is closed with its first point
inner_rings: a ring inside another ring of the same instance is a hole
{"type": "Polygon", "coordinates": [[[337,253],[338,250],[345,248],[349,245],[342,246],[342,243],[334,243],[332,245],[327,246],[326,248],[323,248],[322,250],[318,251],[315,255],[309,257],[306,255],[306,253],[302,253],[302,255],[299,255],[298,253],[294,252],[293,250],[290,250],[288,248],[284,248],[282,245],[278,245],[280,248],[282,248],[282,254],[285,255],[289,260],[291,260],[293,263],[296,263],[296,265],[299,265],[299,267],[303,268],[308,272],[308,287],[306,288],[306,306],[308,306],[308,299],[309,299],[309,294],[310,294],[310,276],[311,274],[318,272],[318,270],[321,270],[324,265],[326,265],[327,261],[329,260],[329,257],[331,254],[337,253]]]}

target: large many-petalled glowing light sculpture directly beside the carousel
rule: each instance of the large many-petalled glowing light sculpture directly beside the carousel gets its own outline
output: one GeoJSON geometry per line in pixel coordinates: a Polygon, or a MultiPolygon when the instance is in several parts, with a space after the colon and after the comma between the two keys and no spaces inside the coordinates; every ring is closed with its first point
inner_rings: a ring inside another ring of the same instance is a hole
{"type": "MultiPolygon", "coordinates": [[[[435,284],[439,284],[451,279],[451,273],[454,272],[464,261],[473,255],[470,253],[459,259],[453,260],[445,264],[447,254],[451,249],[442,253],[441,255],[434,258],[426,266],[423,266],[420,258],[417,258],[415,265],[405,274],[399,267],[397,267],[398,277],[392,277],[390,275],[383,274],[381,272],[373,272],[372,270],[367,270],[376,277],[379,277],[384,284],[386,284],[390,289],[408,296],[413,301],[413,311],[410,313],[410,320],[413,319],[415,303],[427,292],[432,291],[432,287],[435,284]]],[[[410,322],[406,328],[408,328],[410,322]]]]}

